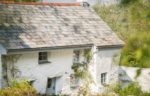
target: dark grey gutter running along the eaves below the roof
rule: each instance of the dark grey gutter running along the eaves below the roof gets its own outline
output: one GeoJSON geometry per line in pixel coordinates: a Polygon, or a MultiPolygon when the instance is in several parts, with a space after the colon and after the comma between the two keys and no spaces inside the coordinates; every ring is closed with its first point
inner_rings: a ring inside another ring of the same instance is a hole
{"type": "MultiPolygon", "coordinates": [[[[31,53],[31,52],[42,52],[52,50],[65,50],[65,49],[89,49],[94,44],[83,44],[83,45],[68,45],[68,46],[54,46],[54,47],[40,47],[40,48],[22,48],[22,49],[8,49],[7,54],[20,54],[20,53],[31,53]]],[[[98,49],[109,49],[109,48],[122,48],[123,44],[118,45],[105,45],[97,46],[98,49]]]]}

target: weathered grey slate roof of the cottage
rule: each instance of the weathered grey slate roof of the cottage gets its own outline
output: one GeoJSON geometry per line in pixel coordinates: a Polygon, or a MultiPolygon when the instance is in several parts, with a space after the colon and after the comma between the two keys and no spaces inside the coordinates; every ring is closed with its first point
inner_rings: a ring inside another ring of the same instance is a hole
{"type": "Polygon", "coordinates": [[[123,42],[90,8],[0,4],[0,44],[25,49],[123,42]]]}

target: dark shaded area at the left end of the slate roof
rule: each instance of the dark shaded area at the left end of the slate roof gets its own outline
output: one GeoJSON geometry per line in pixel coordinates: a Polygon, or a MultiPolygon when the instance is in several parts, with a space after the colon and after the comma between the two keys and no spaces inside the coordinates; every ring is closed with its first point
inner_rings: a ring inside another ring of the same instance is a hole
{"type": "MultiPolygon", "coordinates": [[[[11,7],[11,6],[10,6],[11,7]]],[[[30,48],[21,38],[25,33],[26,24],[23,24],[20,11],[11,10],[7,5],[0,5],[0,43],[6,48],[30,48]]],[[[25,37],[28,33],[25,35],[25,37]]]]}

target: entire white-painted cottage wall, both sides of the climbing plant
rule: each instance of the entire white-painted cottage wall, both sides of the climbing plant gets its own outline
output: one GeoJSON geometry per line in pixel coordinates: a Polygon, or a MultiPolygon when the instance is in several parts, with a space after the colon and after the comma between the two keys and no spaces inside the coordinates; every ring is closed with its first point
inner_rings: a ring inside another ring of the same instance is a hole
{"type": "MultiPolygon", "coordinates": [[[[99,91],[98,88],[103,88],[100,84],[100,76],[103,72],[108,72],[107,82],[118,80],[118,74],[115,73],[118,68],[118,61],[113,64],[113,57],[117,54],[120,58],[119,48],[97,49],[92,47],[93,59],[90,64],[90,72],[95,83],[98,86],[91,86],[93,91],[99,91]],[[100,85],[100,86],[99,86],[100,85]]],[[[81,55],[81,59],[83,55],[81,55]]],[[[70,74],[73,73],[71,66],[73,64],[73,49],[53,50],[48,54],[48,61],[51,63],[38,64],[38,52],[22,53],[15,66],[20,70],[16,74],[18,79],[33,79],[35,80],[33,86],[39,93],[45,93],[47,87],[48,77],[57,77],[56,93],[70,88],[70,74]]]]}

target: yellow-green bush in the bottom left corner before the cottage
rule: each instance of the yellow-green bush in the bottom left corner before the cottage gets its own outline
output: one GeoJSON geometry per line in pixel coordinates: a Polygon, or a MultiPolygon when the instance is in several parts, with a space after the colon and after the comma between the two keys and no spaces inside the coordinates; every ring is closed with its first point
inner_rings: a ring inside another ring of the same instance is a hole
{"type": "Polygon", "coordinates": [[[28,82],[13,81],[10,87],[0,90],[0,96],[36,96],[36,91],[28,82]]]}

